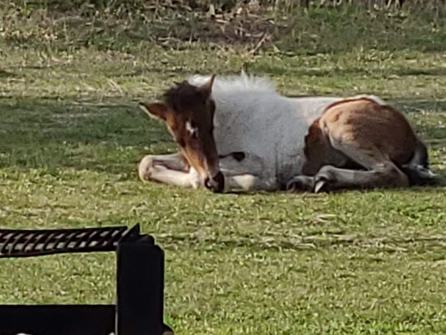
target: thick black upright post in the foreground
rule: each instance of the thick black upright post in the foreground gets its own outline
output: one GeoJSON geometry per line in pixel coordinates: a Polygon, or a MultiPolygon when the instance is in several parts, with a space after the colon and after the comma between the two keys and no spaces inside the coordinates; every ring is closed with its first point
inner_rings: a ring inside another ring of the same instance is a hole
{"type": "Polygon", "coordinates": [[[164,252],[148,238],[117,249],[116,335],[161,335],[164,252]]]}

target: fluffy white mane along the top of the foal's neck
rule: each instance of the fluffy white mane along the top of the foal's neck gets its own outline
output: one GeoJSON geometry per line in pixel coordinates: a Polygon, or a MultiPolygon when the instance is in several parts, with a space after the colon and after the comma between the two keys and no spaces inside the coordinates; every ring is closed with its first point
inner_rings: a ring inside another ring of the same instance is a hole
{"type": "MultiPolygon", "coordinates": [[[[187,80],[191,85],[201,86],[209,81],[211,76],[193,75],[187,80]]],[[[247,75],[244,71],[238,76],[219,77],[216,76],[212,84],[213,92],[231,91],[255,91],[265,93],[277,93],[276,85],[267,77],[247,75]]]]}

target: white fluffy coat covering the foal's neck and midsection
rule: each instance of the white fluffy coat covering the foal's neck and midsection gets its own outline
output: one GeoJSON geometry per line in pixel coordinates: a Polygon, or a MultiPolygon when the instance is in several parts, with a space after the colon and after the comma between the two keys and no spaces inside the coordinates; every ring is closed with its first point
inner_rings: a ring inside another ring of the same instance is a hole
{"type": "MultiPolygon", "coordinates": [[[[192,85],[203,85],[210,76],[191,76],[192,85]]],[[[386,105],[379,97],[362,95],[386,105]]],[[[271,180],[283,183],[302,174],[305,163],[305,136],[311,123],[332,103],[343,97],[285,97],[265,77],[216,77],[212,86],[215,102],[214,138],[218,154],[241,151],[261,159],[263,171],[257,178],[261,188],[271,186],[271,180]]],[[[240,162],[241,170],[253,164],[249,158],[240,162]]],[[[258,162],[256,162],[258,165],[258,162]]],[[[242,184],[245,184],[243,182],[242,184]]],[[[249,181],[246,184],[254,184],[249,181]]]]}

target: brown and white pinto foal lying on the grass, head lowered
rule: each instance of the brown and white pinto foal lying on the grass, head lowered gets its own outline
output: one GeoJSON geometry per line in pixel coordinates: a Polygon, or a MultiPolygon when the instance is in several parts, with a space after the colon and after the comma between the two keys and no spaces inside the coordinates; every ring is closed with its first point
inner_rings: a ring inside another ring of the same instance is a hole
{"type": "Polygon", "coordinates": [[[139,106],[180,150],[145,156],[142,180],[222,192],[406,187],[435,180],[405,117],[375,96],[285,97],[265,78],[195,76],[139,106]]]}

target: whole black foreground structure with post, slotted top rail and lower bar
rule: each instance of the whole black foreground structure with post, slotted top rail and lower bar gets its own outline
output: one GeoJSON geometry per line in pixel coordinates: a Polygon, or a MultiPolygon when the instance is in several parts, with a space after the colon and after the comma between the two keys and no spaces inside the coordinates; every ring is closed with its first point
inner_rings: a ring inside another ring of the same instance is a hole
{"type": "Polygon", "coordinates": [[[115,251],[116,305],[0,305],[0,334],[170,335],[163,322],[164,252],[139,224],[126,226],[0,229],[0,258],[115,251]]]}

